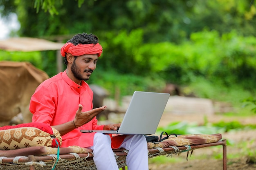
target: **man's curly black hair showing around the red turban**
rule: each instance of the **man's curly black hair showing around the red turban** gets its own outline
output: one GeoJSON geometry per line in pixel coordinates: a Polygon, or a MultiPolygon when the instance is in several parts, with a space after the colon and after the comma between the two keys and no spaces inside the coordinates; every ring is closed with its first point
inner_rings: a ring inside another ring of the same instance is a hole
{"type": "MultiPolygon", "coordinates": [[[[75,46],[78,44],[97,44],[99,42],[99,39],[96,35],[93,35],[92,33],[81,33],[76,34],[74,37],[72,37],[67,42],[71,42],[75,46]]],[[[76,56],[74,56],[76,59],[76,56]]],[[[64,63],[67,65],[67,56],[65,56],[64,63]]]]}

